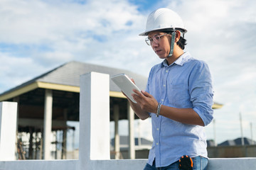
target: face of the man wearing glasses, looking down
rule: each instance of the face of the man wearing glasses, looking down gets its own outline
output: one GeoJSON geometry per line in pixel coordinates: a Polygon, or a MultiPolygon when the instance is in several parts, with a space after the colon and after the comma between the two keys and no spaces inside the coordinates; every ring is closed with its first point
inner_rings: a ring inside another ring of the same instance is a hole
{"type": "Polygon", "coordinates": [[[152,31],[149,33],[148,38],[151,40],[151,47],[159,56],[159,58],[164,59],[169,55],[170,52],[170,42],[171,42],[171,35],[162,33],[161,31],[152,31]],[[158,36],[156,36],[158,35],[158,36]],[[163,36],[161,36],[163,35],[163,36]],[[157,37],[159,42],[155,42],[154,36],[157,37]]]}

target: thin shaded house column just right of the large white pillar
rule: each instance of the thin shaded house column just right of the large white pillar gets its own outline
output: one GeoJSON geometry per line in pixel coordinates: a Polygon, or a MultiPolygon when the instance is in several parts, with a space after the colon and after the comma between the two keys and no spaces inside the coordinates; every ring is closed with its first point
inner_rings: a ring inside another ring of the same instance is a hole
{"type": "Polygon", "coordinates": [[[120,137],[118,132],[119,106],[114,105],[114,158],[120,158],[120,137]]]}

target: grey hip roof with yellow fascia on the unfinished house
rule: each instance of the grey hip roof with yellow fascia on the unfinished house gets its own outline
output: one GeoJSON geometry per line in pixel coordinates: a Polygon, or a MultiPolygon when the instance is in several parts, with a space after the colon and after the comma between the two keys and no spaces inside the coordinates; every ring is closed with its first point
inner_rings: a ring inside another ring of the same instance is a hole
{"type": "MultiPolygon", "coordinates": [[[[14,98],[16,96],[20,96],[21,94],[25,94],[28,91],[33,91],[34,89],[53,89],[59,91],[71,91],[77,92],[80,91],[80,75],[86,74],[89,72],[99,72],[103,74],[110,74],[112,77],[115,74],[127,74],[128,77],[132,77],[139,89],[146,88],[147,77],[144,77],[140,74],[127,71],[125,69],[116,69],[112,67],[105,67],[96,64],[87,64],[83,62],[67,62],[65,64],[56,67],[55,69],[46,72],[45,74],[41,74],[40,76],[31,79],[30,81],[26,81],[25,83],[10,89],[9,91],[5,91],[0,94],[0,101],[6,101],[10,98],[14,98]]],[[[122,95],[119,87],[114,84],[113,81],[110,80],[110,96],[125,98],[122,95]],[[114,92],[114,93],[111,93],[114,92]]],[[[223,105],[220,103],[214,103],[213,108],[222,108],[223,105]]]]}

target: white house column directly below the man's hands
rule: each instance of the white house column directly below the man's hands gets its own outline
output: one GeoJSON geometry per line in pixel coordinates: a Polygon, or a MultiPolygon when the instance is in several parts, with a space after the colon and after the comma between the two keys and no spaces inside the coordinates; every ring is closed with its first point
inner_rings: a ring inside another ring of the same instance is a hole
{"type": "Polygon", "coordinates": [[[129,158],[135,159],[135,142],[134,142],[134,111],[129,102],[127,102],[128,120],[129,120],[129,158]]]}

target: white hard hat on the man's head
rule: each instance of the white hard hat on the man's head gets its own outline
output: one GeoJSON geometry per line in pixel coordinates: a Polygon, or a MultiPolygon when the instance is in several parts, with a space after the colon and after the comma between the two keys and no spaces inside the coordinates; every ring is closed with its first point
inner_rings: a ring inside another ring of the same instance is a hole
{"type": "Polygon", "coordinates": [[[139,35],[146,36],[152,30],[180,30],[186,33],[180,16],[169,8],[159,8],[149,14],[146,21],[146,30],[139,35]]]}

